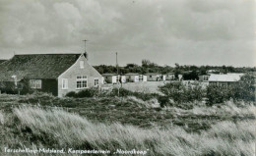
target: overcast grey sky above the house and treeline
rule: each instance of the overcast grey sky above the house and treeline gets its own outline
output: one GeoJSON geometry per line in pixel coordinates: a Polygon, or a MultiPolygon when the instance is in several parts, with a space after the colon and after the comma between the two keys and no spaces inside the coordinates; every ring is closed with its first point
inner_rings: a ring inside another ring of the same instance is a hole
{"type": "Polygon", "coordinates": [[[256,66],[254,0],[0,0],[0,59],[81,53],[92,65],[256,66]]]}

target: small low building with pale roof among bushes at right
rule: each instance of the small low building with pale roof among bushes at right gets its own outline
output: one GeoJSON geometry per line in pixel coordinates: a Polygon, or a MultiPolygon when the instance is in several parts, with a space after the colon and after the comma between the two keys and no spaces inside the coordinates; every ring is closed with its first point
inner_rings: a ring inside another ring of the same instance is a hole
{"type": "Polygon", "coordinates": [[[229,84],[240,80],[242,76],[243,74],[211,75],[209,84],[228,87],[229,84]]]}

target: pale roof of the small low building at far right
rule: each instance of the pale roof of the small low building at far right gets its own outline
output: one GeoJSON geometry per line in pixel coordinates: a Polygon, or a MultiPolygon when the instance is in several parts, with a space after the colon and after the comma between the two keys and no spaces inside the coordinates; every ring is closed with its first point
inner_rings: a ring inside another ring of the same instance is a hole
{"type": "Polygon", "coordinates": [[[243,74],[211,75],[209,81],[238,81],[243,74]]]}

